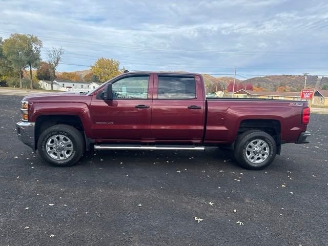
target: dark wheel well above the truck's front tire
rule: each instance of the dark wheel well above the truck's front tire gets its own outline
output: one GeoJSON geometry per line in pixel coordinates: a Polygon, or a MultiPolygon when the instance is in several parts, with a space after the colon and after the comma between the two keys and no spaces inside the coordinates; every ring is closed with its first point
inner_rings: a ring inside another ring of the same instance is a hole
{"type": "Polygon", "coordinates": [[[82,134],[84,133],[82,121],[76,115],[41,115],[35,121],[35,149],[37,148],[37,141],[41,133],[49,127],[59,124],[72,126],[82,134]]]}

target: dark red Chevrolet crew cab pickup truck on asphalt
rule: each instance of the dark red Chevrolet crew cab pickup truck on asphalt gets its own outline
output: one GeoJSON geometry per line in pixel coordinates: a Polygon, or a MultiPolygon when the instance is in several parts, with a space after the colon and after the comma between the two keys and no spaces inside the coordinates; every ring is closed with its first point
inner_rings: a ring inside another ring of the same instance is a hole
{"type": "Polygon", "coordinates": [[[71,166],[85,151],[229,148],[247,169],[267,167],[285,143],[306,144],[306,101],[207,99],[200,74],[128,72],[88,93],[22,101],[18,138],[71,166]]]}

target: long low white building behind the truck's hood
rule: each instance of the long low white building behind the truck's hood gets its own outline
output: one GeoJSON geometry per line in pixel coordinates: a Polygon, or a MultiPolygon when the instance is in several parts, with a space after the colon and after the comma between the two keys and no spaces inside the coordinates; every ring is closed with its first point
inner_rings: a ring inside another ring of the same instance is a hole
{"type": "MultiPolygon", "coordinates": [[[[39,80],[40,87],[44,90],[51,90],[51,83],[49,80],[39,80]]],[[[57,91],[74,91],[74,92],[86,92],[91,91],[98,86],[100,83],[85,82],[85,81],[70,81],[63,79],[53,80],[53,90],[57,91]]]]}

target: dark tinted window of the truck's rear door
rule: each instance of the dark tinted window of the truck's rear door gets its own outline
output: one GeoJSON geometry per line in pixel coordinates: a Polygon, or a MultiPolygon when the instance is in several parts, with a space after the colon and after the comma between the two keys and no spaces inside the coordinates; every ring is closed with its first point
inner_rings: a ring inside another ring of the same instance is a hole
{"type": "Polygon", "coordinates": [[[159,99],[196,98],[196,81],[194,77],[158,76],[159,99]]]}

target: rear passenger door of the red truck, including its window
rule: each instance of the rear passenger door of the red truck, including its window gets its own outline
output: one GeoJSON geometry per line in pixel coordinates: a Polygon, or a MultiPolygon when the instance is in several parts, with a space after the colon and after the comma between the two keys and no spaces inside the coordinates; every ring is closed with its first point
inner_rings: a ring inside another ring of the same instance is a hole
{"type": "Polygon", "coordinates": [[[201,142],[205,101],[197,75],[154,74],[152,138],[201,142]]]}

